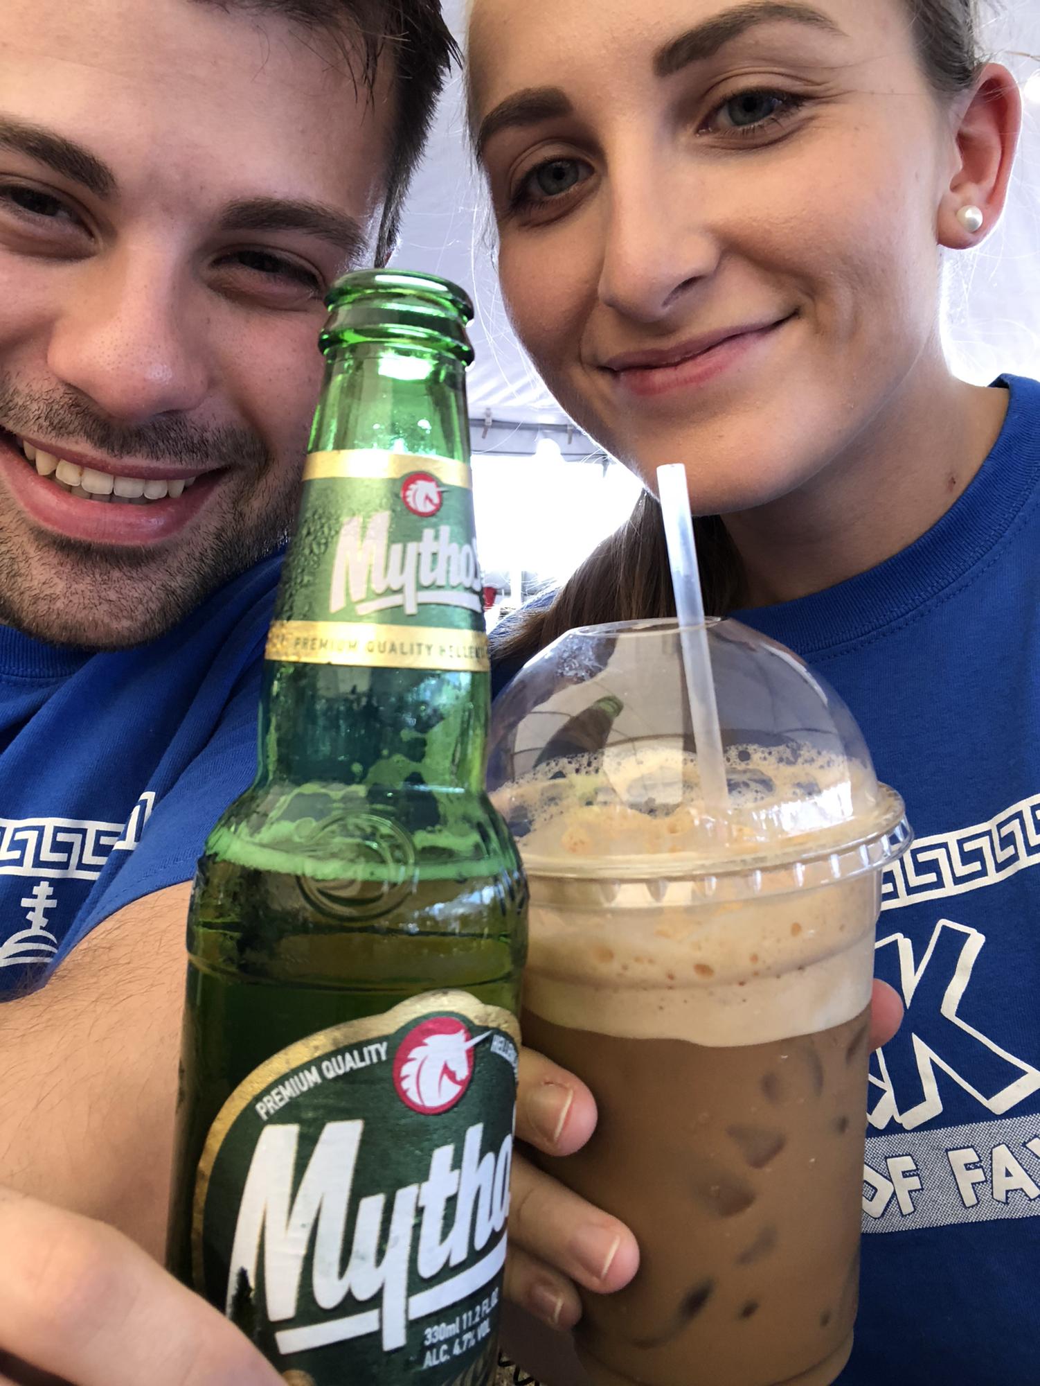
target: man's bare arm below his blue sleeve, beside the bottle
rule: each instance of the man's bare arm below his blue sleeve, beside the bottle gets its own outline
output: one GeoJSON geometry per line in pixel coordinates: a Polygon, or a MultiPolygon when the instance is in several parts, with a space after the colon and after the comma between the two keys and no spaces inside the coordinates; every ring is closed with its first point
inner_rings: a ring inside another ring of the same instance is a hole
{"type": "Polygon", "coordinates": [[[161,1257],[191,886],[100,924],[39,992],[0,1005],[0,1184],[161,1257]]]}

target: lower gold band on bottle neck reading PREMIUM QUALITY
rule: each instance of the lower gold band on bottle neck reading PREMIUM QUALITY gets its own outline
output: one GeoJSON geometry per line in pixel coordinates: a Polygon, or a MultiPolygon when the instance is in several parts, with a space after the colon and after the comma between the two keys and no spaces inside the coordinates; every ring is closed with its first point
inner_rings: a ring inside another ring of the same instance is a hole
{"type": "Polygon", "coordinates": [[[341,621],[276,621],[269,660],[371,669],[439,669],[486,674],[487,636],[432,625],[368,625],[341,621]]]}

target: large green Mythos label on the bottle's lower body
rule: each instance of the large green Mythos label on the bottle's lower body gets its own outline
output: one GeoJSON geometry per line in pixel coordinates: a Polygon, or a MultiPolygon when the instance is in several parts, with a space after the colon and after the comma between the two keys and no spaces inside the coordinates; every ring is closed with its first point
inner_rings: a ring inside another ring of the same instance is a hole
{"type": "Polygon", "coordinates": [[[195,1286],[287,1379],[483,1386],[518,1044],[510,1012],[429,992],[284,1049],[224,1103],[195,1286]]]}

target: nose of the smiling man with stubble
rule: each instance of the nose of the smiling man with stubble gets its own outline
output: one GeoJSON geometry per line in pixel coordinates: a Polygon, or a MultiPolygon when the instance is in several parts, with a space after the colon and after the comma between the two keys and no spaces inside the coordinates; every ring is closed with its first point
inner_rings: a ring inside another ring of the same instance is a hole
{"type": "Polygon", "coordinates": [[[54,377],[120,424],[187,413],[210,384],[205,319],[191,299],[188,276],[158,251],[98,256],[55,317],[54,377]]]}

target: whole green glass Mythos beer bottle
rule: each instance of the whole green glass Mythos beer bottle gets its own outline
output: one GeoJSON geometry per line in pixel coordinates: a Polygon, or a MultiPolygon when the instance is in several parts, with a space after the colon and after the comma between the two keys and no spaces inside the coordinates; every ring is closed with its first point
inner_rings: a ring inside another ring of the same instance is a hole
{"type": "Polygon", "coordinates": [[[348,276],[256,782],[188,916],[172,1270],[295,1386],[496,1369],[526,887],[485,790],[465,294],[348,276]]]}

